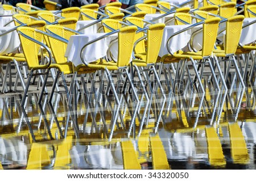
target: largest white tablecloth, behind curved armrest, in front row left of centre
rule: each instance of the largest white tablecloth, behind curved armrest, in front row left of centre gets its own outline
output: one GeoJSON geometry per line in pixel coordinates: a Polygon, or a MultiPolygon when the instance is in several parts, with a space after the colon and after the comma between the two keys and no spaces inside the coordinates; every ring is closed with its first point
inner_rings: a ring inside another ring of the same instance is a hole
{"type": "MultiPolygon", "coordinates": [[[[68,41],[68,47],[65,52],[65,57],[68,58],[68,61],[72,61],[75,66],[82,64],[82,60],[80,58],[81,48],[89,41],[92,41],[97,37],[105,34],[106,33],[88,33],[85,35],[71,36],[68,41]]],[[[105,37],[105,39],[96,41],[95,43],[88,45],[88,47],[84,49],[84,60],[89,63],[96,61],[99,58],[105,57],[110,42],[116,38],[117,34],[105,37]]],[[[117,51],[116,48],[114,49],[117,51]]]]}

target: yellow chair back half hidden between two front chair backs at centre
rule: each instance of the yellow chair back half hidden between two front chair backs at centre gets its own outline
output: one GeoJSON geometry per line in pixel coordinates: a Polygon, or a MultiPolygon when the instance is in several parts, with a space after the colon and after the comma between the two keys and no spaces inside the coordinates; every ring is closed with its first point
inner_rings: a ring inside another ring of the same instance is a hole
{"type": "MultiPolygon", "coordinates": [[[[140,28],[143,28],[143,26],[144,26],[144,22],[141,18],[127,17],[125,20],[127,23],[134,24],[135,26],[140,27],[140,28]]],[[[141,38],[143,36],[144,36],[143,32],[136,33],[135,41],[137,41],[139,38],[141,38]]],[[[146,52],[145,41],[144,40],[140,41],[134,50],[135,50],[135,53],[137,53],[137,54],[145,53],[146,52]]]]}

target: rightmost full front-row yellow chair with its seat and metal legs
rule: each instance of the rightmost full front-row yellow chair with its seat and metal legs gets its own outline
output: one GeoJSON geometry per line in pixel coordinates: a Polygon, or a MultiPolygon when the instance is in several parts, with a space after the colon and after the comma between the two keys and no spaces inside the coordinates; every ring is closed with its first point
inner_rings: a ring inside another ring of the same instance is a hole
{"type": "MultiPolygon", "coordinates": [[[[226,57],[229,59],[225,58],[225,61],[230,60],[233,62],[236,68],[237,77],[240,80],[242,87],[245,87],[245,84],[243,83],[243,79],[240,74],[240,70],[238,69],[236,58],[234,57],[234,55],[236,54],[238,43],[240,40],[244,18],[245,17],[243,15],[237,15],[228,18],[228,20],[226,21],[226,35],[224,44],[217,45],[217,49],[213,50],[215,55],[214,58],[216,60],[216,65],[218,66],[218,69],[220,69],[218,62],[220,62],[221,60],[218,60],[217,57],[226,57]]],[[[225,70],[225,72],[227,72],[228,74],[229,70],[225,70]]],[[[224,83],[223,81],[224,80],[222,80],[222,83],[224,83]]]]}

